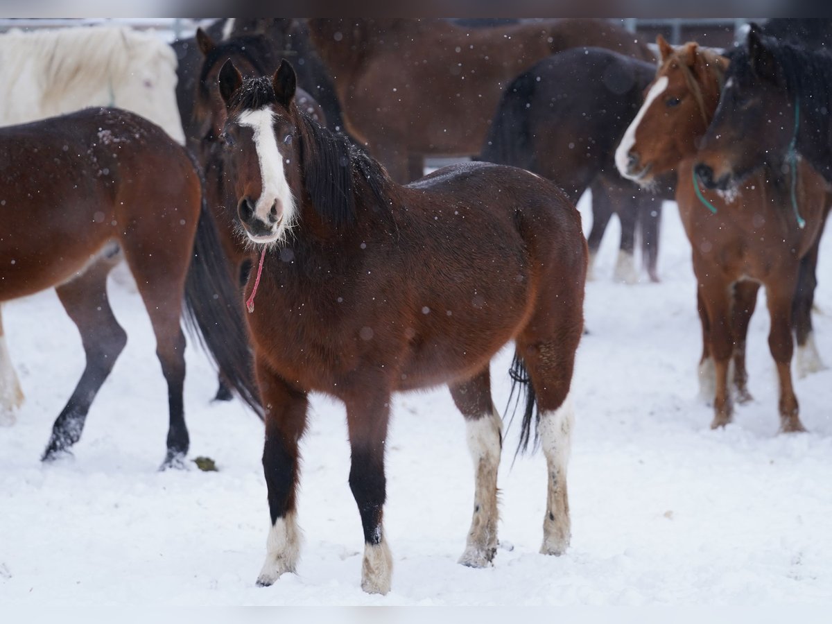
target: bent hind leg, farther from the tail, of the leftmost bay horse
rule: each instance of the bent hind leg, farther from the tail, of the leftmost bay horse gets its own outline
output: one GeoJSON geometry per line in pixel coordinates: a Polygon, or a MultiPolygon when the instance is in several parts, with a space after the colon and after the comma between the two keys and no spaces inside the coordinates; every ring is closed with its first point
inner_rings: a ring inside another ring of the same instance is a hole
{"type": "Polygon", "coordinates": [[[113,265],[100,260],[83,275],[55,289],[81,333],[87,365],[52,426],[43,461],[57,458],[81,438],[90,405],[127,342],[127,334],[112,314],[106,295],[106,276],[113,265]]]}

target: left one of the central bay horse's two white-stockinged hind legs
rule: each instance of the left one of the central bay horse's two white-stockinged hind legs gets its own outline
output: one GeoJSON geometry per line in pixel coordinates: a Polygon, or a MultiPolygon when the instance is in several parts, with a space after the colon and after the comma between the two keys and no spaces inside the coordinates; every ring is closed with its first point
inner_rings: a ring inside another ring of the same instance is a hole
{"type": "Polygon", "coordinates": [[[497,469],[503,446],[503,423],[491,400],[488,368],[473,379],[449,388],[453,402],[465,417],[476,479],[468,544],[459,562],[485,567],[497,552],[497,469]]]}

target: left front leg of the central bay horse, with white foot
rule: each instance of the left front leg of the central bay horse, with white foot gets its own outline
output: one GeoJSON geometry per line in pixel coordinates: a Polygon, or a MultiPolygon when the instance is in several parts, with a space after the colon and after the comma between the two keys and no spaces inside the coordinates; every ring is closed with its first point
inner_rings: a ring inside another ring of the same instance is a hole
{"type": "Polygon", "coordinates": [[[263,472],[269,494],[271,527],[257,584],[266,587],[285,572],[295,572],[300,556],[296,519],[298,443],[306,428],[307,395],[290,388],[258,360],[257,383],[265,407],[263,472]]]}

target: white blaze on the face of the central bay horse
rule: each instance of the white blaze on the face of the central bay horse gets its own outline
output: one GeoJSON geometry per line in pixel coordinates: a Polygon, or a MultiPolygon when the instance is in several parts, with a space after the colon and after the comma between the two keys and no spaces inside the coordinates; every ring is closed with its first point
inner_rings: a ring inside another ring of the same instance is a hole
{"type": "Polygon", "coordinates": [[[286,231],[295,221],[295,198],[292,196],[289,182],[286,181],[283,156],[280,156],[280,151],[277,149],[272,121],[273,114],[268,106],[258,111],[245,111],[237,120],[240,126],[250,127],[254,131],[255,150],[260,161],[262,190],[255,204],[255,216],[264,223],[269,223],[269,213],[275,201],[278,203],[278,210],[282,210],[282,219],[276,224],[273,236],[268,239],[255,239],[249,235],[255,243],[283,240],[286,231]]]}

